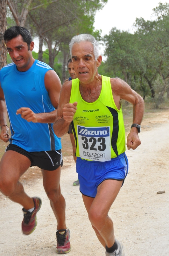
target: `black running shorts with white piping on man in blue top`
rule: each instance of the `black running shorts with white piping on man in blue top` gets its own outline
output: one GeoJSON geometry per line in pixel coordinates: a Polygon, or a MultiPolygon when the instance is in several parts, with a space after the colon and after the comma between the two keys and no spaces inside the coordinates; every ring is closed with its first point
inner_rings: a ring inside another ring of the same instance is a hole
{"type": "Polygon", "coordinates": [[[9,144],[5,151],[13,150],[29,158],[30,166],[38,166],[40,169],[54,171],[63,165],[62,152],[59,150],[28,152],[14,144],[9,144]]]}

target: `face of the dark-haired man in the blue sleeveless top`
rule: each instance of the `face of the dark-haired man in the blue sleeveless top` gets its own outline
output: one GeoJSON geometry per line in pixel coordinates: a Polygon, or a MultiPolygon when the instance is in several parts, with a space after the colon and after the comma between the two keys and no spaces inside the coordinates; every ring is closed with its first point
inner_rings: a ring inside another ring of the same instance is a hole
{"type": "Polygon", "coordinates": [[[34,43],[31,42],[30,50],[28,45],[23,41],[21,35],[6,41],[7,50],[11,59],[16,64],[18,71],[27,71],[32,66],[32,50],[34,43]]]}

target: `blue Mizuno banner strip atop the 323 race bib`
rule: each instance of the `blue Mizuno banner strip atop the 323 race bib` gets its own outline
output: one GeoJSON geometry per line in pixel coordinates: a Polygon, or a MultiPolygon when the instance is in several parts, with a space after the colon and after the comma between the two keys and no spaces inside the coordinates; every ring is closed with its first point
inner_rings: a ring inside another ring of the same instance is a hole
{"type": "Polygon", "coordinates": [[[86,137],[109,137],[109,127],[83,127],[78,125],[78,135],[85,135],[86,137]]]}

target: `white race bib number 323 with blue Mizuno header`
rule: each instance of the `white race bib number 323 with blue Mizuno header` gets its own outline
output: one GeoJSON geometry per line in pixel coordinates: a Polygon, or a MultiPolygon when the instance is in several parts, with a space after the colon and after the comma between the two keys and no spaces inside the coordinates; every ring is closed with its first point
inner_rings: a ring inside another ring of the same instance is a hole
{"type": "Polygon", "coordinates": [[[81,158],[100,162],[111,160],[110,126],[77,125],[77,134],[81,158]]]}

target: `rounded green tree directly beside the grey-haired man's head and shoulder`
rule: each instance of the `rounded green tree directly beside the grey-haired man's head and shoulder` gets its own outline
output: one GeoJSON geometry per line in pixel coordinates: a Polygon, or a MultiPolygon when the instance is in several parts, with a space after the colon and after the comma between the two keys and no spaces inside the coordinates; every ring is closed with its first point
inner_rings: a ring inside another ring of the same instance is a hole
{"type": "MultiPolygon", "coordinates": [[[[139,92],[144,88],[141,77],[145,64],[140,50],[139,37],[127,31],[112,28],[110,34],[104,36],[107,61],[105,68],[110,76],[121,77],[131,88],[139,92]]],[[[145,90],[143,90],[145,92],[145,90]]]]}

